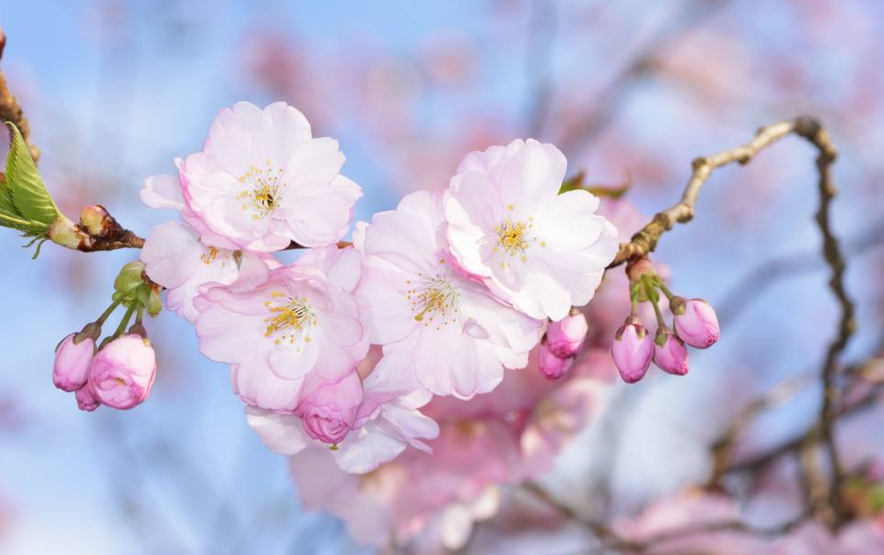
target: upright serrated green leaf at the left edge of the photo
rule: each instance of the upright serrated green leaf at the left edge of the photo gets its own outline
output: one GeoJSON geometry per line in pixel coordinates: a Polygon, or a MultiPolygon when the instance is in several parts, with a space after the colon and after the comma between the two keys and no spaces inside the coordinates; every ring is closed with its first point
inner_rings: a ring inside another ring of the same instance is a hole
{"type": "Polygon", "coordinates": [[[6,156],[6,187],[11,193],[18,216],[26,220],[50,224],[61,215],[59,207],[49,195],[37,165],[31,158],[25,139],[13,123],[6,123],[12,135],[9,155],[6,156]]]}

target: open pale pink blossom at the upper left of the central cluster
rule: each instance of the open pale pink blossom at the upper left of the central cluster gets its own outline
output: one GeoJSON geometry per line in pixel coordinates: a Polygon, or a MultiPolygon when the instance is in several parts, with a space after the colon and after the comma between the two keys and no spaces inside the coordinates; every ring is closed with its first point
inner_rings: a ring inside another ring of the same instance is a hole
{"type": "Polygon", "coordinates": [[[337,141],[313,138],[293,107],[238,102],[218,114],[204,151],[186,157],[183,197],[201,235],[205,227],[250,251],[325,246],[346,234],[362,196],[338,173],[343,164],[337,141]]]}

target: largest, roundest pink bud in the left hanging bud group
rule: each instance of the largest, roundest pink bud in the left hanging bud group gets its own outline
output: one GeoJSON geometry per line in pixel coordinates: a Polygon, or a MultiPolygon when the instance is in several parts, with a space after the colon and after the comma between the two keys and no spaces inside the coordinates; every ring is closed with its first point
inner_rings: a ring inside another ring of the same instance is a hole
{"type": "Polygon", "coordinates": [[[155,375],[154,347],[144,337],[128,334],[114,339],[92,359],[89,387],[101,403],[127,410],[147,399],[155,375]]]}

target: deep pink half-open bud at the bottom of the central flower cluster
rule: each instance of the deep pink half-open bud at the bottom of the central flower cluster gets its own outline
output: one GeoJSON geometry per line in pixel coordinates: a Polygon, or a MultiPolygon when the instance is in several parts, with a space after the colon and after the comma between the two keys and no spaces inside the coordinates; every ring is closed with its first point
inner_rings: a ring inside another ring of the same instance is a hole
{"type": "Polygon", "coordinates": [[[362,403],[362,380],[356,371],[335,382],[325,382],[304,396],[294,414],[304,432],[324,443],[340,443],[353,427],[362,403]]]}

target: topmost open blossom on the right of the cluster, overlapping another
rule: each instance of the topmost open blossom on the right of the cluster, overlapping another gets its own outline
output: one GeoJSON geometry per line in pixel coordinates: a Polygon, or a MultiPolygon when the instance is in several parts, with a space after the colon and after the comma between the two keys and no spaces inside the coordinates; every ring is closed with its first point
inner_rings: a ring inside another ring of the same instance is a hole
{"type": "Polygon", "coordinates": [[[519,310],[560,320],[589,303],[617,251],[617,230],[584,190],[559,195],[565,156],[517,140],[461,162],[445,201],[454,257],[519,310]]]}

